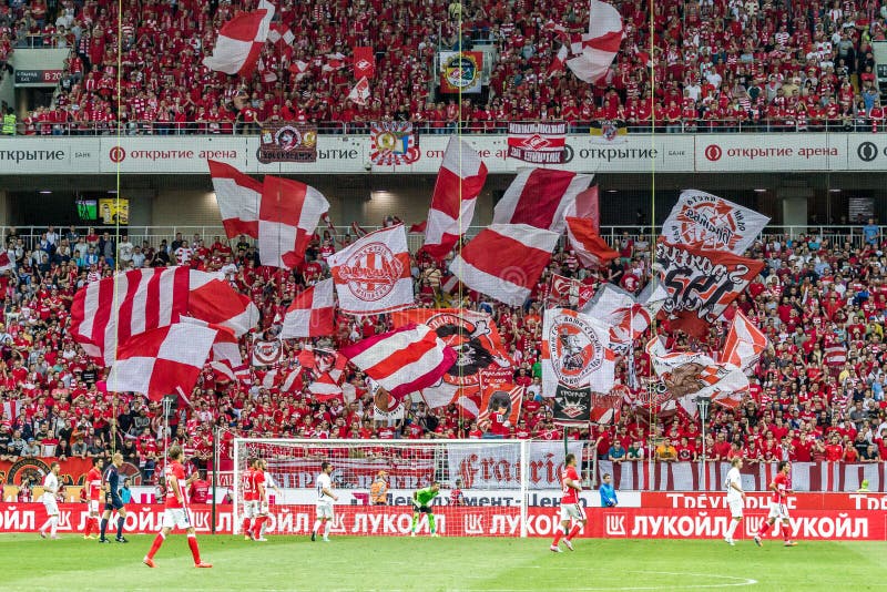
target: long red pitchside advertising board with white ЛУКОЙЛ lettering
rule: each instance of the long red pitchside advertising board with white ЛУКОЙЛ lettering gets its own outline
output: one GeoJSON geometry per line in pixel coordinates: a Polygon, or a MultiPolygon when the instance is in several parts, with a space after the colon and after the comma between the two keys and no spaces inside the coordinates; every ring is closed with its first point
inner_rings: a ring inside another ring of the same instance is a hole
{"type": "MultiPolygon", "coordinates": [[[[162,506],[130,506],[125,532],[149,534],[160,530],[162,506]]],[[[216,532],[232,534],[232,508],[221,506],[216,512],[216,532]]],[[[271,534],[307,534],[314,522],[314,506],[273,506],[267,532],[271,534]]],[[[211,532],[212,508],[191,509],[197,532],[211,532]]],[[[845,510],[795,510],[792,514],[792,538],[797,540],[887,540],[887,516],[884,512],[845,510]]],[[[85,527],[86,504],[60,506],[59,532],[79,533],[85,527]]],[[[34,532],[45,520],[42,503],[8,504],[0,512],[0,532],[34,532]]],[[[590,509],[583,538],[631,539],[720,539],[730,516],[724,512],[700,512],[690,509],[590,509]]],[[[766,518],[764,510],[746,511],[737,539],[751,539],[766,518]]],[[[412,512],[408,507],[378,508],[367,506],[336,507],[334,535],[392,535],[410,531],[412,512]]],[[[517,507],[441,507],[436,509],[438,532],[445,537],[519,537],[520,508],[517,507]]],[[[551,537],[558,528],[557,508],[529,508],[528,537],[551,537]]],[[[778,524],[769,537],[779,538],[778,524]]],[[[428,532],[422,517],[418,531],[428,532]]]]}

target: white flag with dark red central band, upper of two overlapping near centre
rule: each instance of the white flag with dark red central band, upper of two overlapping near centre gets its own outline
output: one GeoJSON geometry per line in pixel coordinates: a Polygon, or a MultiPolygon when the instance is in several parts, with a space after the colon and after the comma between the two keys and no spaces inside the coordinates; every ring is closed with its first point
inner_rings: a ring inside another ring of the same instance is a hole
{"type": "Polygon", "coordinates": [[[592,175],[553,169],[519,169],[504,195],[496,204],[495,224],[528,224],[563,232],[564,216],[575,211],[575,198],[589,188],[592,175]]]}

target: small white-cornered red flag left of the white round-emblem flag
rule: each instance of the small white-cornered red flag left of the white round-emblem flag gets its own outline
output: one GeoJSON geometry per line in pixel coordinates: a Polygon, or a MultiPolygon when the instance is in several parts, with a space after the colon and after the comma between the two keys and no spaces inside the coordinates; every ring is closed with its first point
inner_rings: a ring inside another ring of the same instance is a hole
{"type": "Polygon", "coordinates": [[[231,329],[235,337],[258,325],[258,308],[248,296],[217,279],[215,274],[191,269],[188,277],[190,316],[231,329]]]}

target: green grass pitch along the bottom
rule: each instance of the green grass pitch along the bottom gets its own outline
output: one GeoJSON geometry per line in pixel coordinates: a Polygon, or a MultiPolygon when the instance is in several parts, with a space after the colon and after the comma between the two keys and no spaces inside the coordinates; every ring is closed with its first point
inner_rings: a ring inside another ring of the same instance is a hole
{"type": "Polygon", "coordinates": [[[202,537],[212,570],[195,570],[176,534],[141,563],[153,537],[99,545],[68,535],[0,537],[0,590],[830,590],[887,589],[887,543],[579,540],[575,552],[542,539],[272,537],[251,543],[202,537]]]}

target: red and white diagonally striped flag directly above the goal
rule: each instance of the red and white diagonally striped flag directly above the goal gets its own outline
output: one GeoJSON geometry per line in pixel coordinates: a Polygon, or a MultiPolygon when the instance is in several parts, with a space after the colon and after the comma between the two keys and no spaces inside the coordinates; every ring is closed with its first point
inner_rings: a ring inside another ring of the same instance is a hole
{"type": "Polygon", "coordinates": [[[440,380],[457,358],[427,325],[406,325],[364,339],[343,348],[341,355],[397,400],[440,380]]]}

